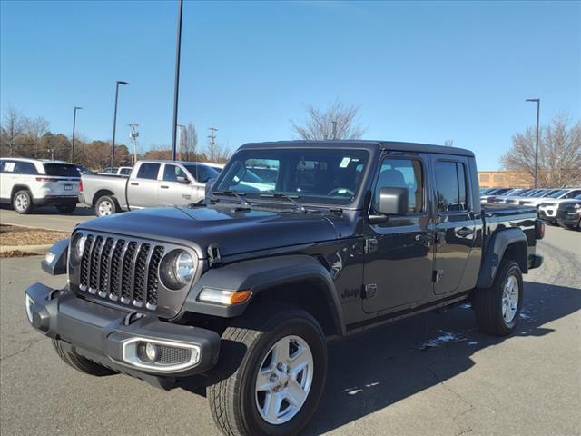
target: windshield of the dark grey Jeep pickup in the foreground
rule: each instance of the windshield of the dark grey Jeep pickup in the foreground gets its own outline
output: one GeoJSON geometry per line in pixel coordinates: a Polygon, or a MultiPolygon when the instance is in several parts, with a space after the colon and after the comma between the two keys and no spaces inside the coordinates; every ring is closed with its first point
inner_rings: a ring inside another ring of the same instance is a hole
{"type": "Polygon", "coordinates": [[[212,192],[248,198],[283,193],[310,203],[351,203],[368,163],[364,150],[243,150],[222,171],[212,192]]]}

